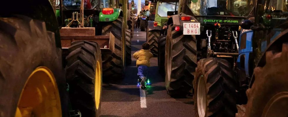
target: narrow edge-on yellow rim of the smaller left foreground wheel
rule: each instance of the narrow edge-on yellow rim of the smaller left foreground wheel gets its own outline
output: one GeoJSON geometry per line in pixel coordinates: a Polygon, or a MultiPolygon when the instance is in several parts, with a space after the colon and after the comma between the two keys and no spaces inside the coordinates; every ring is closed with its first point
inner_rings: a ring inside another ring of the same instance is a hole
{"type": "Polygon", "coordinates": [[[98,110],[99,104],[100,104],[100,95],[101,95],[101,68],[100,68],[100,63],[97,61],[96,65],[96,73],[95,73],[95,104],[96,104],[96,109],[98,110]]]}

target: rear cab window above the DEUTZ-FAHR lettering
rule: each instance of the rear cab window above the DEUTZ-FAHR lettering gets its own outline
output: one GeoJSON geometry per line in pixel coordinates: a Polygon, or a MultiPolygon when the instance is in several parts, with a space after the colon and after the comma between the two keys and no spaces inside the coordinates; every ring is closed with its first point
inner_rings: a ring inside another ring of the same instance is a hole
{"type": "Polygon", "coordinates": [[[195,16],[247,17],[254,0],[191,0],[188,6],[195,16]]]}

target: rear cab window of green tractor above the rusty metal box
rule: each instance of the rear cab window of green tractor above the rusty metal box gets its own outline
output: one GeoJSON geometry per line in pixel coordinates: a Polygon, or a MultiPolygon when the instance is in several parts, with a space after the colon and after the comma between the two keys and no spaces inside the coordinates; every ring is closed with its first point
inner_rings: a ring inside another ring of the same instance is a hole
{"type": "MultiPolygon", "coordinates": [[[[63,6],[67,9],[80,9],[81,0],[63,0],[63,6]]],[[[84,9],[94,9],[98,0],[84,0],[84,9]]]]}

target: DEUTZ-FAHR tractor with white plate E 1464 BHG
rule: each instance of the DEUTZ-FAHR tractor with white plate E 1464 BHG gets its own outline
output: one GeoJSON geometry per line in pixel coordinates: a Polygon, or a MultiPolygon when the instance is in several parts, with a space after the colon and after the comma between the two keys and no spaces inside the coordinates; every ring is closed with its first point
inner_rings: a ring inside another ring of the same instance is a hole
{"type": "Polygon", "coordinates": [[[159,48],[165,54],[158,58],[165,60],[159,67],[165,68],[165,86],[171,96],[195,94],[200,59],[225,58],[231,63],[237,59],[240,22],[254,17],[254,1],[246,1],[251,4],[245,12],[234,12],[234,1],[210,2],[180,0],[178,14],[168,19],[165,48],[159,48]]]}

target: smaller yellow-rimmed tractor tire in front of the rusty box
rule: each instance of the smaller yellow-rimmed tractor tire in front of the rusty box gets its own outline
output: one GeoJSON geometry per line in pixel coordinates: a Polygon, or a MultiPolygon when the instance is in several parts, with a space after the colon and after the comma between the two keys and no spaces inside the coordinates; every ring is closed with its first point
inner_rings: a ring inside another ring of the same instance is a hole
{"type": "Polygon", "coordinates": [[[102,94],[101,50],[96,42],[72,42],[66,56],[66,80],[73,110],[99,117],[102,94]]]}

